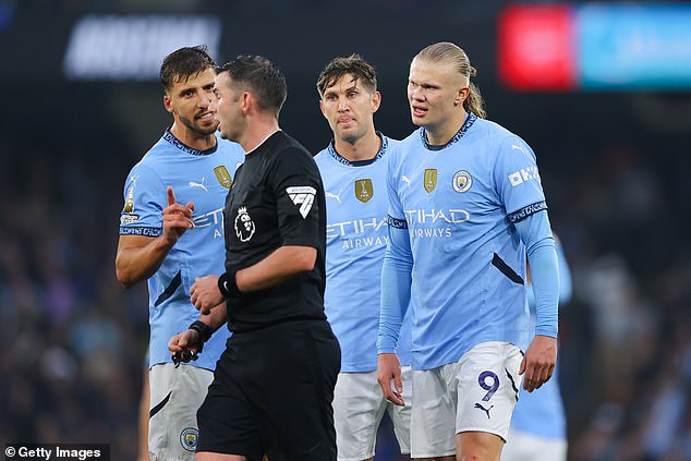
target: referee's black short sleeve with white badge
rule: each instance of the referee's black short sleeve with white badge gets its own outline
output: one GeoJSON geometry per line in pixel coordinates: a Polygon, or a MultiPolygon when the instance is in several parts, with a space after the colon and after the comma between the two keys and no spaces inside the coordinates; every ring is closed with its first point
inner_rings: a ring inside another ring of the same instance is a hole
{"type": "Polygon", "coordinates": [[[281,244],[318,247],[324,186],[312,156],[300,148],[286,149],[276,160],[270,181],[281,244]]]}

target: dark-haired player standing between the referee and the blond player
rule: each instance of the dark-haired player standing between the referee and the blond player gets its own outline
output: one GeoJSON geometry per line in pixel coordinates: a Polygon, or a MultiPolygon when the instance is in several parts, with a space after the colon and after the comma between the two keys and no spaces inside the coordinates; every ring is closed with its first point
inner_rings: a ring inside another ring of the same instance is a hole
{"type": "MultiPolygon", "coordinates": [[[[334,141],[315,160],[327,206],[324,304],[341,344],[334,393],[338,459],[372,460],[385,411],[401,452],[409,453],[411,399],[404,407],[388,402],[376,376],[379,278],[388,240],[386,167],[398,142],[375,131],[381,96],[374,68],[359,54],[332,59],[319,74],[317,90],[334,132],[334,141]]],[[[409,322],[396,350],[408,378],[409,322]]]]}

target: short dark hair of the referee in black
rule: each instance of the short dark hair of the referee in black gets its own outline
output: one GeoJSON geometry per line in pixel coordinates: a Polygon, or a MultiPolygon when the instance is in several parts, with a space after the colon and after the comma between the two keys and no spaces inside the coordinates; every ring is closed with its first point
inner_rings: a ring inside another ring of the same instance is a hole
{"type": "Polygon", "coordinates": [[[286,76],[278,65],[263,56],[241,54],[217,69],[217,74],[223,72],[228,72],[234,85],[252,92],[262,110],[278,117],[288,96],[286,76]]]}

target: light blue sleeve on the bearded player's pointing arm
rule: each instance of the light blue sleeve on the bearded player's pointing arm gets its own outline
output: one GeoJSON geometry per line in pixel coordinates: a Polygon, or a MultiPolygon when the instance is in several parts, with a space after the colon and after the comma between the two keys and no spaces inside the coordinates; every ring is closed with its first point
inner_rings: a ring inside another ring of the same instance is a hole
{"type": "Polygon", "coordinates": [[[136,165],[124,184],[120,235],[159,236],[162,210],[168,206],[166,184],[149,167],[136,165]]]}

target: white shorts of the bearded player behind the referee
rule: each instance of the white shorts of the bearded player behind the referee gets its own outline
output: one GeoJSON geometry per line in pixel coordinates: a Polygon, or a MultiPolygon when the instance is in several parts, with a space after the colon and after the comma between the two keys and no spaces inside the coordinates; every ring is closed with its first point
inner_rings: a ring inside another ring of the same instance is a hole
{"type": "Polygon", "coordinates": [[[153,459],[192,459],[198,441],[196,412],[213,372],[190,365],[154,365],[148,446],[153,459]]]}

